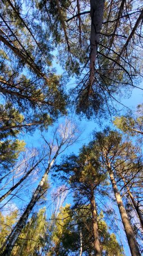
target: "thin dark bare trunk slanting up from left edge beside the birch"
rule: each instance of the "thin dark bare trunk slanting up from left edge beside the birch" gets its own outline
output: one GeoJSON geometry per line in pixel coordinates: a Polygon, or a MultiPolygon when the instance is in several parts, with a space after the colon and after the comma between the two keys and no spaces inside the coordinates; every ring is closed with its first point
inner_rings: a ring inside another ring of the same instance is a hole
{"type": "Polygon", "coordinates": [[[29,174],[31,174],[31,172],[34,170],[34,168],[36,168],[36,167],[38,166],[38,164],[39,164],[43,159],[44,159],[44,158],[40,159],[40,160],[27,172],[27,174],[25,174],[25,176],[22,177],[22,178],[18,181],[18,183],[16,183],[12,188],[10,188],[10,189],[5,193],[5,195],[1,196],[1,197],[0,197],[0,202],[1,202],[2,200],[6,199],[6,197],[7,197],[8,195],[10,195],[10,193],[11,193],[12,191],[14,191],[15,188],[17,188],[17,187],[29,176],[29,174]]]}

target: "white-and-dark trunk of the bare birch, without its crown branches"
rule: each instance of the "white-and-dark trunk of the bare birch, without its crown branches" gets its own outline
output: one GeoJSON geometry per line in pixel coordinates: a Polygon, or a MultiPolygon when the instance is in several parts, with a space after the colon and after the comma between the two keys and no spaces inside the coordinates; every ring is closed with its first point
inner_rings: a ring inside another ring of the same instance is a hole
{"type": "MultiPolygon", "coordinates": [[[[61,145],[60,145],[61,147],[61,145]]],[[[50,168],[53,166],[55,159],[58,156],[60,147],[58,148],[53,160],[49,163],[49,166],[47,167],[45,174],[42,176],[42,179],[40,181],[40,183],[38,184],[38,187],[36,189],[36,191],[33,193],[32,199],[29,202],[29,204],[27,205],[27,208],[25,209],[24,213],[22,214],[22,216],[20,217],[18,223],[16,224],[13,232],[11,233],[10,236],[8,236],[7,241],[5,242],[6,248],[3,251],[3,253],[1,254],[2,256],[10,256],[11,251],[15,245],[15,242],[17,241],[21,230],[24,228],[27,220],[28,220],[28,216],[31,213],[34,205],[37,203],[38,199],[40,198],[41,192],[42,192],[42,186],[44,185],[46,178],[47,178],[47,174],[49,173],[50,168]]],[[[2,246],[3,247],[3,246],[2,246]]]]}

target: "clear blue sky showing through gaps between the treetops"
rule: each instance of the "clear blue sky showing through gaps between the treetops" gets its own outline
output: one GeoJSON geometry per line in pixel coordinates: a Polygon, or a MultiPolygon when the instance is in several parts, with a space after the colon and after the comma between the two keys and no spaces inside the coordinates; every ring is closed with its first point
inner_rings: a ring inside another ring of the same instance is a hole
{"type": "MultiPolygon", "coordinates": [[[[58,64],[54,63],[54,65],[57,68],[58,74],[60,74],[62,72],[62,69],[59,67],[58,64]]],[[[70,83],[72,83],[72,82],[73,82],[73,80],[71,79],[70,83]]],[[[143,83],[140,86],[143,87],[143,83]]],[[[136,111],[136,106],[138,104],[142,103],[142,90],[137,89],[137,88],[133,89],[131,97],[130,98],[121,98],[120,102],[122,104],[124,104],[125,106],[127,106],[128,108],[136,111]]],[[[123,107],[121,105],[119,105],[117,102],[115,103],[115,106],[117,109],[121,109],[121,108],[123,109],[123,107]]],[[[126,112],[125,108],[124,108],[124,112],[126,112]]],[[[47,132],[44,132],[44,136],[47,139],[47,141],[51,138],[51,136],[52,136],[51,132],[54,129],[55,125],[57,125],[60,122],[63,122],[63,119],[64,118],[60,118],[56,123],[53,124],[52,127],[49,127],[47,132]]],[[[73,119],[73,121],[75,120],[75,122],[79,126],[79,129],[82,130],[82,134],[81,134],[79,142],[76,142],[71,147],[67,148],[67,150],[63,153],[63,154],[67,154],[67,155],[71,154],[72,152],[74,152],[75,154],[78,154],[79,148],[81,148],[84,143],[85,144],[89,143],[89,141],[92,139],[92,135],[91,135],[92,131],[95,129],[97,131],[101,130],[101,127],[99,127],[99,125],[97,124],[96,119],[94,119],[94,120],[92,119],[89,121],[85,118],[79,119],[79,117],[77,117],[76,115],[72,116],[72,119],[73,119]]],[[[112,126],[110,117],[106,121],[103,120],[102,126],[104,127],[105,125],[110,125],[111,127],[114,128],[114,126],[112,126]]],[[[102,127],[102,129],[103,129],[103,127],[102,127]]],[[[21,134],[20,139],[24,139],[24,141],[27,144],[27,147],[30,147],[30,148],[42,147],[42,145],[44,144],[44,141],[41,138],[41,133],[38,130],[33,135],[21,134]]],[[[52,181],[51,181],[51,183],[52,183],[52,181]]],[[[30,180],[29,180],[29,185],[31,185],[30,180]]],[[[35,185],[37,185],[37,184],[35,183],[31,186],[34,188],[35,185]]],[[[51,187],[51,190],[54,187],[55,186],[51,187]]],[[[29,198],[29,196],[26,197],[25,195],[24,195],[24,197],[25,197],[26,201],[29,198]]],[[[48,200],[50,200],[49,197],[48,197],[48,200]]],[[[25,204],[27,203],[26,201],[25,201],[25,204]]],[[[71,201],[70,197],[68,197],[67,203],[69,203],[69,201],[71,201]]],[[[17,200],[14,201],[15,204],[16,204],[16,202],[17,202],[17,200]]],[[[12,202],[11,202],[11,207],[12,208],[15,207],[15,204],[12,204],[12,202]]],[[[21,207],[22,204],[23,204],[23,202],[21,202],[21,205],[19,205],[19,207],[21,207]]],[[[117,208],[116,208],[116,214],[119,216],[119,211],[117,208]]],[[[121,226],[120,221],[118,224],[119,224],[119,226],[121,226]]],[[[131,253],[129,251],[127,239],[126,239],[125,235],[122,238],[123,238],[123,245],[124,245],[125,253],[126,253],[126,255],[129,256],[129,255],[131,255],[131,253]]]]}

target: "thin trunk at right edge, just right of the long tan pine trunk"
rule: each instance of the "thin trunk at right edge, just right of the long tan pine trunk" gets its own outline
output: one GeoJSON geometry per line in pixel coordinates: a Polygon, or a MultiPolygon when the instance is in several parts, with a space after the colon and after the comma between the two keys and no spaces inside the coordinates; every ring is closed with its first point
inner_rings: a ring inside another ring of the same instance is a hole
{"type": "Polygon", "coordinates": [[[142,216],[142,212],[140,210],[140,205],[136,202],[136,200],[134,199],[131,191],[129,190],[129,187],[127,186],[127,183],[125,182],[125,179],[124,177],[122,176],[122,174],[120,174],[120,177],[122,177],[122,180],[124,181],[124,185],[125,187],[127,188],[127,192],[128,192],[128,195],[133,203],[133,206],[135,207],[135,210],[137,212],[137,216],[138,218],[140,219],[140,222],[141,222],[141,226],[142,226],[142,229],[143,229],[143,216],[142,216]]]}

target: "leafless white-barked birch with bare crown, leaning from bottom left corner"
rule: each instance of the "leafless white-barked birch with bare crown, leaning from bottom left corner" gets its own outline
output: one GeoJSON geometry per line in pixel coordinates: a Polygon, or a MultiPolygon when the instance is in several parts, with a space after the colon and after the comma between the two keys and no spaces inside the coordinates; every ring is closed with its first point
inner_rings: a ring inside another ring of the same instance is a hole
{"type": "Polygon", "coordinates": [[[51,143],[47,142],[45,139],[45,142],[47,143],[47,146],[49,147],[49,164],[46,168],[46,171],[44,175],[41,178],[40,183],[38,184],[36,190],[34,191],[31,201],[27,205],[27,208],[24,210],[24,213],[21,215],[19,221],[15,225],[14,229],[12,230],[10,236],[8,237],[7,241],[5,242],[5,249],[3,250],[2,255],[10,255],[15,242],[17,241],[19,234],[21,233],[21,230],[24,228],[28,216],[31,213],[31,210],[33,209],[34,205],[40,199],[42,195],[46,192],[46,188],[42,189],[46,179],[47,175],[49,174],[49,171],[51,167],[53,167],[53,164],[55,162],[55,159],[57,159],[58,155],[61,154],[68,146],[70,146],[72,143],[74,143],[77,140],[78,137],[78,130],[75,125],[71,125],[70,122],[66,121],[65,126],[60,125],[53,134],[53,141],[51,143]],[[56,143],[56,145],[54,145],[56,143]],[[53,150],[54,155],[53,155],[53,150]]]}

